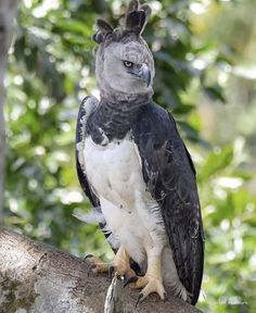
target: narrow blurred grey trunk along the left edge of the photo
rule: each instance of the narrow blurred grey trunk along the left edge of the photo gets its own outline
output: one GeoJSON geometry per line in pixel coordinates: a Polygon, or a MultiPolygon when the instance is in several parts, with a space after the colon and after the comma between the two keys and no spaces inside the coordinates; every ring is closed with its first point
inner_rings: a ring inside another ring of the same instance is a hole
{"type": "Polygon", "coordinates": [[[0,223],[3,211],[3,192],[4,192],[4,155],[5,155],[5,134],[3,102],[4,88],[3,79],[7,68],[8,50],[11,45],[12,24],[16,15],[18,0],[0,1],[0,223]]]}

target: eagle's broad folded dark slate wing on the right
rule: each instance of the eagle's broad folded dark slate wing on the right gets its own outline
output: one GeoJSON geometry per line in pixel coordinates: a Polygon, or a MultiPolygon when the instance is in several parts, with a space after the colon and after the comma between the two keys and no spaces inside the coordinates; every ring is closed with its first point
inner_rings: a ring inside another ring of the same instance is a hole
{"type": "Polygon", "coordinates": [[[204,263],[204,235],[195,171],[170,114],[151,103],[132,127],[143,178],[157,200],[179,278],[195,304],[204,263]]]}

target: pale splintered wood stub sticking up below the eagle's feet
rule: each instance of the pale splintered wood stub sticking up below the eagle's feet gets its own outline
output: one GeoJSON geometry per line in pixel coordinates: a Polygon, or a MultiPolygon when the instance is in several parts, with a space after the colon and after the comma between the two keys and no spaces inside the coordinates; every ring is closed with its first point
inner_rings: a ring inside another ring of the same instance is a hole
{"type": "Polygon", "coordinates": [[[104,313],[123,313],[123,280],[124,276],[119,276],[115,274],[111,286],[107,289],[105,304],[104,304],[104,313]]]}

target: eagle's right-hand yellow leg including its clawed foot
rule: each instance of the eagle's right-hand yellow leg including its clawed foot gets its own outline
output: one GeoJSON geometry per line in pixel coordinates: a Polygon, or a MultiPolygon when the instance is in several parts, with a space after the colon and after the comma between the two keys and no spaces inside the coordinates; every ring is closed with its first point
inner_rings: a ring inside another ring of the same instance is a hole
{"type": "Polygon", "coordinates": [[[148,270],[145,275],[143,277],[138,277],[137,281],[130,284],[130,286],[131,288],[143,288],[140,292],[138,302],[153,292],[156,292],[161,299],[164,300],[166,292],[162,277],[162,254],[154,255],[154,252],[151,251],[148,254],[148,270]]]}

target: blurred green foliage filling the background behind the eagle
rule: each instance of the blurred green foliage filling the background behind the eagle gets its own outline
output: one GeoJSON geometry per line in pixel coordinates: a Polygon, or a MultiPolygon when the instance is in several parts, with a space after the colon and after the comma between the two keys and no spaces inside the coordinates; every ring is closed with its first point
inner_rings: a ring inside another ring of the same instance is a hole
{"type": "MultiPolygon", "coordinates": [[[[245,137],[223,139],[236,120],[222,121],[223,132],[215,128],[205,136],[210,121],[201,112],[213,102],[210,110],[219,108],[220,123],[223,108],[232,108],[226,90],[230,87],[223,82],[240,82],[231,74],[242,58],[241,49],[233,49],[238,42],[232,38],[219,42],[217,35],[209,34],[219,32],[213,22],[216,18],[220,25],[235,21],[241,25],[244,15],[238,11],[242,4],[217,2],[205,8],[189,0],[150,1],[153,16],[144,37],[156,63],[154,100],[172,112],[196,163],[206,238],[205,299],[202,297],[199,308],[205,312],[253,312],[256,198],[249,186],[255,179],[251,170],[255,166],[251,160],[254,149],[245,137]],[[203,30],[203,22],[194,13],[200,9],[209,12],[203,30]]],[[[104,14],[117,25],[113,16],[125,12],[125,3],[26,0],[20,7],[10,53],[4,223],[76,255],[94,252],[110,258],[112,253],[97,226],[73,216],[73,212],[90,208],[76,177],[75,120],[80,100],[97,95],[95,43],[91,40],[94,21],[104,14]]],[[[230,90],[233,93],[235,88],[230,90]]],[[[254,115],[246,118],[255,121],[254,115]]],[[[253,132],[248,139],[255,142],[253,132]]]]}

